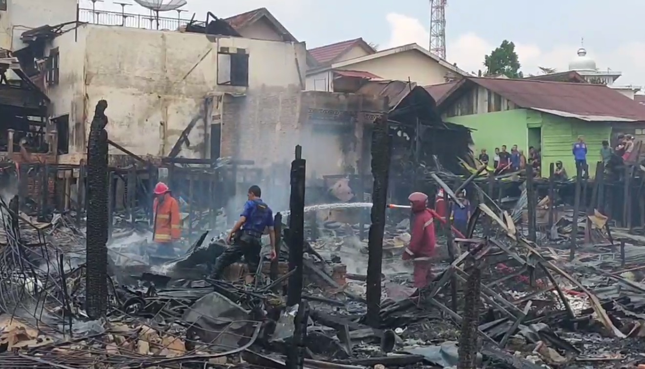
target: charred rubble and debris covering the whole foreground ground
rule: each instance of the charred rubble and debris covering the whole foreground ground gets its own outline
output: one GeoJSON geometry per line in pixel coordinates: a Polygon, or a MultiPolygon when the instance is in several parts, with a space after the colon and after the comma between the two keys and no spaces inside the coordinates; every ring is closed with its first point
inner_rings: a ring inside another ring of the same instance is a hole
{"type": "Polygon", "coordinates": [[[15,227],[0,207],[2,367],[284,368],[301,352],[309,368],[451,368],[465,350],[460,332],[473,305],[478,338],[468,345],[479,364],[645,363],[645,240],[624,245],[624,261],[610,243],[581,247],[570,262],[568,246],[537,247],[490,201],[473,214],[470,238],[455,240],[454,256],[440,238],[434,281],[421,290],[410,287],[411,269],[401,261],[409,223],[388,226],[379,326],[365,324],[368,246],[360,222],[309,224],[306,287],[293,307],[284,296],[292,273],[284,241],[279,278],[270,280],[266,260],[257,271],[232,265],[225,281],[215,281],[204,278],[204,260],[226,247],[219,238],[206,241],[204,233],[182,258],[164,261],[155,260],[145,234],[116,231],[108,316],[92,321],[84,311],[83,230],[61,215],[48,223],[23,216],[15,227]],[[481,285],[471,294],[475,275],[481,285]]]}

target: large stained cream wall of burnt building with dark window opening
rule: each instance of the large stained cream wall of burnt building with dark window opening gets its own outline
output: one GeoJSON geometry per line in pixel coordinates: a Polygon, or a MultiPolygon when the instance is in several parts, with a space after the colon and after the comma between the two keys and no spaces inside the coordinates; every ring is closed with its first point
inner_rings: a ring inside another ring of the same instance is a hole
{"type": "MultiPolygon", "coordinates": [[[[55,112],[70,113],[70,128],[77,137],[84,130],[84,141],[95,104],[106,99],[110,138],[137,155],[168,155],[195,117],[199,120],[188,136],[190,146],[183,147],[179,156],[208,155],[212,119],[204,119],[204,109],[213,107],[206,106],[207,98],[248,94],[249,100],[257,101],[266,91],[304,87],[304,44],[237,37],[210,41],[197,33],[95,25],[79,28],[76,43],[70,35],[52,45],[61,53],[61,84],[50,91],[55,112]],[[132,46],[134,41],[137,47],[132,46]],[[244,48],[249,53],[248,88],[217,85],[219,47],[244,48]],[[83,109],[79,96],[83,96],[83,109]]],[[[223,123],[241,124],[225,119],[223,123]]],[[[80,139],[74,140],[70,152],[82,153],[84,147],[80,139]]]]}

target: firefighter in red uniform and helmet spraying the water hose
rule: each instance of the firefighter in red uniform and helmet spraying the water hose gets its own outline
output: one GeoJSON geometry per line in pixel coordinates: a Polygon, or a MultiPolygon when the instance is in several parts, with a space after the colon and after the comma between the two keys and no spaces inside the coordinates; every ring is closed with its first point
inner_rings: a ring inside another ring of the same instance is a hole
{"type": "Polygon", "coordinates": [[[414,264],[414,287],[422,288],[428,284],[431,274],[431,261],[435,250],[435,227],[432,213],[427,209],[428,195],[415,192],[408,196],[412,206],[412,238],[403,252],[403,260],[414,264]]]}

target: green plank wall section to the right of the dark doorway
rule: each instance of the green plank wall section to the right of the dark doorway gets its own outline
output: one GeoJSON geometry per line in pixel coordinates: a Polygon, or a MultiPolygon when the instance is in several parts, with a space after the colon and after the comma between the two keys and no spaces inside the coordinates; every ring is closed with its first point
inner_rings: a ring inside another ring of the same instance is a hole
{"type": "Polygon", "coordinates": [[[587,143],[587,163],[590,176],[593,176],[595,164],[600,160],[602,140],[609,140],[611,125],[542,113],[542,176],[548,176],[549,164],[557,160],[562,160],[569,176],[575,175],[571,147],[579,135],[584,136],[587,143]]]}

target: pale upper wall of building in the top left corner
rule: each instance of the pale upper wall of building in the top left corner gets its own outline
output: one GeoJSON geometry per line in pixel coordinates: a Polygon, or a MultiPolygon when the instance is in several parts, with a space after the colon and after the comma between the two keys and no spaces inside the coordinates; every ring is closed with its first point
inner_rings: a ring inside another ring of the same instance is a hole
{"type": "Polygon", "coordinates": [[[0,11],[0,47],[25,47],[20,35],[26,30],[49,24],[55,26],[76,20],[77,0],[8,0],[0,11]]]}

